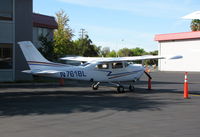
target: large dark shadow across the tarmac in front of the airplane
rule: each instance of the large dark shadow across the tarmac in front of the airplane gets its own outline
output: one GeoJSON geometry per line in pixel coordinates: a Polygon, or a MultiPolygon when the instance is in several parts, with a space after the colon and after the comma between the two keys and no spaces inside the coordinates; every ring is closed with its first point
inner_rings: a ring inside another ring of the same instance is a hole
{"type": "MultiPolygon", "coordinates": [[[[142,93],[142,92],[141,92],[142,93]]],[[[103,110],[159,111],[170,101],[113,91],[23,91],[0,93],[0,116],[69,114],[103,110]]]]}

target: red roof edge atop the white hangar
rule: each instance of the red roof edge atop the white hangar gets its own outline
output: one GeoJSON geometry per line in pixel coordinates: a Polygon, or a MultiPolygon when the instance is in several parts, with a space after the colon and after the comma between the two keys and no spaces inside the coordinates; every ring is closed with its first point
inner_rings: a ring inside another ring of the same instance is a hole
{"type": "Polygon", "coordinates": [[[168,33],[155,35],[155,41],[170,41],[170,40],[185,40],[185,39],[200,39],[200,31],[168,33]]]}

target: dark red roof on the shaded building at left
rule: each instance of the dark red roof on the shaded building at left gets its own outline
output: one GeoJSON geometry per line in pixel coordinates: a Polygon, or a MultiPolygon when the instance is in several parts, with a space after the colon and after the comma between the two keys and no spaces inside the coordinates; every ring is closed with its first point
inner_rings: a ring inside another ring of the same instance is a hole
{"type": "Polygon", "coordinates": [[[49,29],[57,29],[58,24],[53,16],[33,13],[33,26],[49,29]]]}

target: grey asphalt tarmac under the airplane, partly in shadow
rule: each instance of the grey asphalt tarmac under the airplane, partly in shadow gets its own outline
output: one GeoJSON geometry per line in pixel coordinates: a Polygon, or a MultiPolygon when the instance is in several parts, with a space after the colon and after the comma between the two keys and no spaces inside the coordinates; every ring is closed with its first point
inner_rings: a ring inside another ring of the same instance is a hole
{"type": "Polygon", "coordinates": [[[200,73],[154,72],[135,92],[88,83],[0,86],[0,137],[198,137],[200,73]]]}

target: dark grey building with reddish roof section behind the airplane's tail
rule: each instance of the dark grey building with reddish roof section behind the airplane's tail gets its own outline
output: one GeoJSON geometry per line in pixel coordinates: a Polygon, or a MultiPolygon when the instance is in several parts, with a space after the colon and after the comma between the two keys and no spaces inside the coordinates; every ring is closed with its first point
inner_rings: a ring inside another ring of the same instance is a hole
{"type": "Polygon", "coordinates": [[[32,79],[21,73],[28,65],[17,42],[38,45],[38,36],[52,38],[57,28],[54,17],[33,13],[32,5],[32,0],[0,0],[0,82],[32,79]]]}

